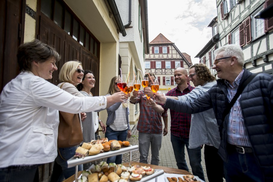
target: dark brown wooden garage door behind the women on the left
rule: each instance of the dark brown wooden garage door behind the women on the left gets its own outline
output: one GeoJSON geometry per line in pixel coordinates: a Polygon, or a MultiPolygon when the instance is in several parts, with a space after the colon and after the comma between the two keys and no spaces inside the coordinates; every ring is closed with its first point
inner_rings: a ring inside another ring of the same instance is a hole
{"type": "Polygon", "coordinates": [[[61,60],[56,64],[58,70],[53,73],[52,80],[49,82],[57,85],[60,68],[66,61],[79,60],[82,62],[83,69],[91,70],[97,80],[95,88],[91,90],[94,96],[99,94],[99,60],[93,56],[90,51],[74,40],[63,29],[58,27],[52,20],[41,13],[39,25],[39,40],[53,45],[61,55],[61,60]]]}

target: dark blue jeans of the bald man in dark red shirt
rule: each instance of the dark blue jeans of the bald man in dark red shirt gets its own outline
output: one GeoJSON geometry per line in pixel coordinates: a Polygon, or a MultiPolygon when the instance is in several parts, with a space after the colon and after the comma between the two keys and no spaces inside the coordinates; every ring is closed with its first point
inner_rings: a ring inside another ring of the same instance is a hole
{"type": "Polygon", "coordinates": [[[189,149],[189,138],[177,137],[171,134],[172,148],[175,155],[176,165],[178,169],[189,171],[187,162],[185,160],[185,146],[187,148],[188,156],[192,174],[198,176],[201,180],[205,181],[203,168],[201,165],[201,147],[189,149]]]}

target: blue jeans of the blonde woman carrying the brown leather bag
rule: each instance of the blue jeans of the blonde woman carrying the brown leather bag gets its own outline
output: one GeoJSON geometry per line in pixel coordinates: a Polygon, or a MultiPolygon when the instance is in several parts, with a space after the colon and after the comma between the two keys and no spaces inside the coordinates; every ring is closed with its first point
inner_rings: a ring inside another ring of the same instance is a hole
{"type": "MultiPolygon", "coordinates": [[[[75,167],[67,168],[67,160],[75,155],[77,148],[78,148],[78,146],[76,146],[76,147],[67,147],[67,148],[59,148],[60,154],[58,152],[58,155],[57,155],[57,157],[55,159],[55,162],[57,162],[57,164],[62,167],[62,170],[63,170],[62,174],[64,175],[65,179],[67,179],[70,176],[72,176],[73,174],[75,174],[75,169],[76,169],[75,167]]],[[[82,170],[83,170],[82,165],[78,165],[78,171],[82,171],[82,170]]],[[[60,176],[62,174],[60,174],[60,176]]]]}

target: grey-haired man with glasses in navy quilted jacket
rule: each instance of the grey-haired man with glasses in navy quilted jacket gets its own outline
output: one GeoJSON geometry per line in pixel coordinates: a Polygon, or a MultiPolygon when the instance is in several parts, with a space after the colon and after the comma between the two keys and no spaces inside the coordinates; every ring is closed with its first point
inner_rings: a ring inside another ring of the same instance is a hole
{"type": "Polygon", "coordinates": [[[215,51],[212,69],[217,85],[194,101],[166,99],[156,94],[165,107],[187,113],[213,108],[221,143],[218,154],[230,181],[273,181],[273,76],[256,75],[244,88],[231,110],[225,108],[252,73],[244,66],[244,53],[238,45],[225,45],[215,51]]]}

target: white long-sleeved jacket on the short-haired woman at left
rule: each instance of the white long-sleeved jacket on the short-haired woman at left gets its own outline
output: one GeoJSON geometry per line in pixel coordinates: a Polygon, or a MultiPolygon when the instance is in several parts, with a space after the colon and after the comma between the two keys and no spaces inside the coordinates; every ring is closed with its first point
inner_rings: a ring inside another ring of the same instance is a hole
{"type": "Polygon", "coordinates": [[[105,109],[100,97],[76,97],[32,72],[21,72],[0,95],[0,168],[54,161],[58,110],[68,113],[105,109]]]}

